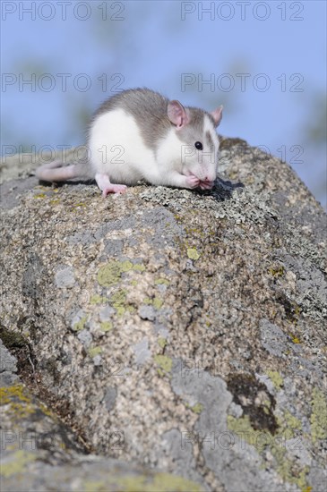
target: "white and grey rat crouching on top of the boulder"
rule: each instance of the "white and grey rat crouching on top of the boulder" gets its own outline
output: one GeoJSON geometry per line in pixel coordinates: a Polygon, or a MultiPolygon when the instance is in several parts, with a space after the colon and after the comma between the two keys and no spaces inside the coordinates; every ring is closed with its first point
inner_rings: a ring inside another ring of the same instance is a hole
{"type": "Polygon", "coordinates": [[[89,160],[42,165],[36,175],[49,182],[94,178],[104,197],[126,185],[151,184],[210,190],[217,177],[222,106],[211,113],[184,107],[150,89],[128,89],[105,101],[88,131],[89,160]],[[119,184],[118,184],[119,183],[119,184]]]}

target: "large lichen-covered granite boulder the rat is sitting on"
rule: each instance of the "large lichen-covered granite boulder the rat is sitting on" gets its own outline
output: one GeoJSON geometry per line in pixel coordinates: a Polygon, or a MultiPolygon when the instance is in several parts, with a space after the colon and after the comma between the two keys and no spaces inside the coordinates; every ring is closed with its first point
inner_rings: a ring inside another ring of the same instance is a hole
{"type": "Polygon", "coordinates": [[[4,338],[25,340],[24,382],[90,451],[156,470],[149,485],[121,469],[128,484],[323,490],[326,215],[244,140],[222,141],[220,171],[212,191],[102,199],[12,170],[4,338]]]}

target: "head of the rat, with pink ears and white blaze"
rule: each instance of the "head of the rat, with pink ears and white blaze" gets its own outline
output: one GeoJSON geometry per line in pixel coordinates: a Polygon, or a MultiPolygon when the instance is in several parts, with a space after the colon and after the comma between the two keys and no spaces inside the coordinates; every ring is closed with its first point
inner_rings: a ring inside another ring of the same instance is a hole
{"type": "Polygon", "coordinates": [[[185,108],[179,101],[169,101],[168,118],[176,126],[176,136],[182,142],[182,174],[194,174],[203,188],[212,188],[218,169],[216,127],[222,118],[222,106],[206,113],[195,107],[185,108]]]}

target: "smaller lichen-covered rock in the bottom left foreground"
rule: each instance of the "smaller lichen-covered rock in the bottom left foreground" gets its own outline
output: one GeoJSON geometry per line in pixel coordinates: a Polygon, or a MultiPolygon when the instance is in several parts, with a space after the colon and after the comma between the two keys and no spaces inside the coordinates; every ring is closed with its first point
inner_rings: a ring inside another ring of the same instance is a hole
{"type": "MultiPolygon", "coordinates": [[[[2,337],[14,350],[20,346],[15,334],[4,330],[2,337]]],[[[2,491],[200,491],[191,480],[90,454],[81,437],[22,384],[19,362],[2,340],[0,362],[2,491]]]]}

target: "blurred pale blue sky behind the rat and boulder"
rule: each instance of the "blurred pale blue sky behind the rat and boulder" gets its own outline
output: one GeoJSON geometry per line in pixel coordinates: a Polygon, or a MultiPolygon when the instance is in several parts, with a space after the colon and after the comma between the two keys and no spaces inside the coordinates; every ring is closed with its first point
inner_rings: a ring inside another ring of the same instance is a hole
{"type": "Polygon", "coordinates": [[[326,207],[325,143],[305,133],[326,89],[323,0],[1,7],[3,146],[82,144],[87,116],[102,100],[145,86],[186,106],[223,103],[219,131],[286,157],[326,207]]]}

